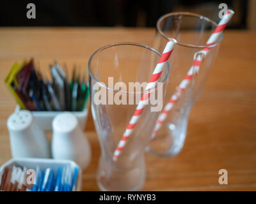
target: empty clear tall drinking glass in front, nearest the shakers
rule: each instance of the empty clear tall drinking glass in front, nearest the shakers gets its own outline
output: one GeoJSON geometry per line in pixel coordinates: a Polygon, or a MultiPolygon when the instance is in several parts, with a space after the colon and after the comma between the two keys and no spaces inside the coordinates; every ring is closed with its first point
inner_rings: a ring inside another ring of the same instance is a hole
{"type": "Polygon", "coordinates": [[[136,43],[99,48],[88,62],[92,115],[101,156],[97,184],[102,191],[138,191],[145,180],[144,150],[163,105],[170,72],[164,66],[156,88],[117,161],[113,153],[145,91],[161,54],[136,43]],[[141,87],[142,85],[142,87],[141,87]]]}

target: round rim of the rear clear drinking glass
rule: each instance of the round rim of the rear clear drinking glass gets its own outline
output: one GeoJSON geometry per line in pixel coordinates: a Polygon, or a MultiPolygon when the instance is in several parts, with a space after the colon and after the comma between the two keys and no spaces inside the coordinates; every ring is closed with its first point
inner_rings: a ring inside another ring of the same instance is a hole
{"type": "MultiPolygon", "coordinates": [[[[161,36],[163,36],[164,38],[166,38],[166,40],[169,40],[170,38],[172,38],[171,36],[168,37],[166,36],[162,29],[160,28],[160,23],[164,18],[167,17],[171,17],[174,15],[186,15],[186,16],[190,16],[190,17],[197,17],[200,18],[202,20],[205,20],[207,22],[210,22],[211,24],[217,26],[218,24],[216,24],[216,22],[214,22],[214,20],[211,20],[210,18],[207,18],[203,15],[197,14],[197,13],[192,13],[192,12],[186,12],[186,11],[178,11],[178,12],[171,12],[171,13],[166,13],[165,15],[161,16],[156,23],[156,28],[157,28],[157,32],[159,34],[161,34],[161,36]]],[[[214,43],[211,44],[211,47],[216,47],[217,45],[220,44],[221,40],[223,38],[223,32],[221,33],[220,39],[215,41],[214,43]]],[[[177,45],[183,46],[183,47],[191,47],[191,48],[206,48],[209,47],[209,45],[193,45],[193,44],[189,44],[189,43],[179,43],[179,41],[176,42],[177,45]]]]}

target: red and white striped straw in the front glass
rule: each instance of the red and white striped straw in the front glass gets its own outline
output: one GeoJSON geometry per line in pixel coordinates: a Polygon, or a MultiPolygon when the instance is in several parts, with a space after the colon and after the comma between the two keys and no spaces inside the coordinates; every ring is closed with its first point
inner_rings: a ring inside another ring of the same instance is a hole
{"type": "MultiPolygon", "coordinates": [[[[170,38],[168,40],[168,43],[166,44],[166,47],[164,48],[164,52],[161,55],[159,61],[157,62],[156,68],[154,69],[154,72],[152,73],[152,76],[147,84],[147,87],[145,91],[148,91],[149,89],[152,89],[153,87],[156,86],[157,80],[161,76],[161,73],[163,71],[164,65],[166,64],[166,61],[168,61],[170,55],[172,54],[173,47],[176,43],[176,40],[170,38]]],[[[132,130],[134,126],[136,126],[136,123],[138,119],[140,118],[141,113],[143,112],[143,108],[145,105],[147,105],[148,98],[150,96],[150,92],[143,94],[143,96],[140,99],[140,102],[138,103],[138,106],[136,107],[135,112],[132,115],[131,120],[129,121],[128,126],[125,129],[124,135],[122,136],[120,142],[118,143],[116,150],[113,155],[113,160],[116,161],[120,153],[125,147],[125,143],[129,139],[132,130]]]]}

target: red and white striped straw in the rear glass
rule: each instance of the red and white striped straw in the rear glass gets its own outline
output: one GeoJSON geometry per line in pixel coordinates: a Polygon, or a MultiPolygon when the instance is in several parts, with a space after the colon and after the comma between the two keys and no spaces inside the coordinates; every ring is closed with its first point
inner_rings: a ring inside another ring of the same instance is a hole
{"type": "Polygon", "coordinates": [[[211,49],[211,44],[216,42],[216,40],[218,40],[218,38],[220,37],[221,33],[223,32],[223,30],[225,29],[226,25],[228,24],[229,20],[232,18],[233,15],[234,15],[234,11],[227,10],[223,18],[221,18],[216,29],[211,34],[210,38],[207,40],[206,45],[209,45],[209,46],[195,53],[194,59],[193,59],[193,65],[189,69],[186,77],[182,80],[182,82],[180,82],[179,86],[177,87],[177,91],[172,95],[170,101],[167,103],[166,106],[164,106],[163,112],[159,115],[152,138],[156,136],[156,133],[159,130],[159,128],[161,128],[161,125],[166,119],[167,114],[170,112],[170,110],[172,110],[173,105],[178,101],[181,92],[184,91],[184,89],[186,89],[186,87],[189,85],[189,82],[191,82],[191,78],[193,77],[194,73],[199,71],[200,64],[203,59],[202,55],[200,55],[200,52],[204,55],[208,54],[209,50],[211,49]]]}

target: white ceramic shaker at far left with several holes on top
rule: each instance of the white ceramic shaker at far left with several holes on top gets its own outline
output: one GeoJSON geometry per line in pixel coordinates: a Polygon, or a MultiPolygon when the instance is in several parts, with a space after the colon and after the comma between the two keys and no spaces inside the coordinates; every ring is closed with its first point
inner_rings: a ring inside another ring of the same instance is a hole
{"type": "Polygon", "coordinates": [[[15,112],[7,120],[12,156],[50,158],[50,143],[28,110],[15,112]]]}

